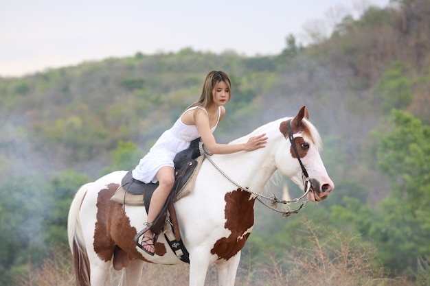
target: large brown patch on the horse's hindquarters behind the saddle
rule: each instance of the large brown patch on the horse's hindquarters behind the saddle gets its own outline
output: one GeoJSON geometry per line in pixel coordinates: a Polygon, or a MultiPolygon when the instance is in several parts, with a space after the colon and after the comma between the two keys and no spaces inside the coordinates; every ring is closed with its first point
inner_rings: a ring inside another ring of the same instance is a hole
{"type": "MultiPolygon", "coordinates": [[[[98,194],[94,250],[103,261],[112,259],[115,246],[117,246],[127,253],[128,259],[141,259],[150,262],[137,251],[133,241],[137,230],[131,226],[130,219],[126,216],[122,204],[110,200],[118,187],[118,184],[109,184],[106,189],[101,190],[98,194]]],[[[157,255],[163,256],[167,253],[166,246],[163,243],[156,243],[155,252],[157,255]]]]}

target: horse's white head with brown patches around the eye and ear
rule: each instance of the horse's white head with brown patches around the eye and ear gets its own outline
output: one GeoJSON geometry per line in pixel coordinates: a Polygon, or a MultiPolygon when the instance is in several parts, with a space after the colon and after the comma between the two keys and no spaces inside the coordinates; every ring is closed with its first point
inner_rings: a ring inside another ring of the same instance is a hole
{"type": "Polygon", "coordinates": [[[276,165],[303,190],[309,183],[308,200],[319,202],[327,198],[335,184],[319,156],[321,137],[308,119],[308,109],[303,106],[293,119],[280,123],[280,132],[289,148],[288,151],[285,148],[278,150],[276,165]]]}

